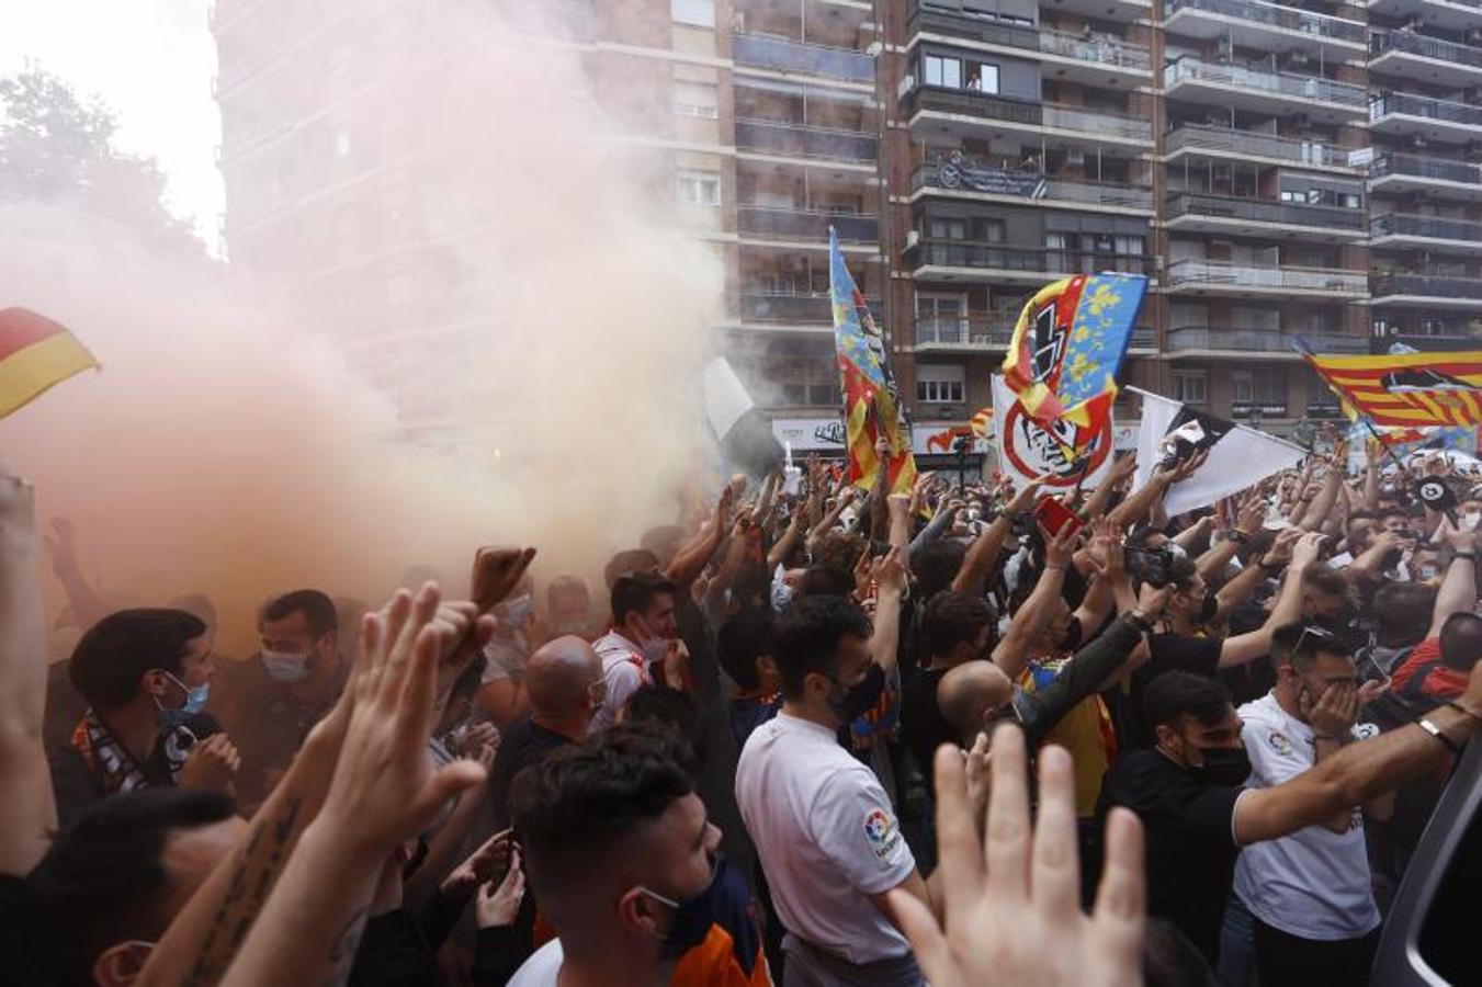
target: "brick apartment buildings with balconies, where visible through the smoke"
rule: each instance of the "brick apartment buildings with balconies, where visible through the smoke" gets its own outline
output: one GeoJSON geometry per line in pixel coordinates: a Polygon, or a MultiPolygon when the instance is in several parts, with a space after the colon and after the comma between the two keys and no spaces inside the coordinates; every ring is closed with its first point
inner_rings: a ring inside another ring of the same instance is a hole
{"type": "MultiPolygon", "coordinates": [[[[219,0],[212,18],[231,259],[288,293],[342,295],[368,368],[408,333],[492,330],[455,292],[399,308],[439,277],[436,236],[403,228],[436,175],[385,159],[400,124],[366,139],[344,111],[384,68],[363,56],[373,36],[445,1],[219,0]],[[379,221],[344,230],[336,215],[366,215],[336,205],[357,188],[379,221]],[[298,250],[267,246],[285,231],[298,250]]],[[[839,406],[830,225],[925,433],[991,402],[1020,308],[1069,273],[1153,279],[1129,382],[1275,430],[1337,413],[1297,336],[1478,345],[1479,0],[550,9],[723,258],[717,344],[799,436],[839,406]]]]}

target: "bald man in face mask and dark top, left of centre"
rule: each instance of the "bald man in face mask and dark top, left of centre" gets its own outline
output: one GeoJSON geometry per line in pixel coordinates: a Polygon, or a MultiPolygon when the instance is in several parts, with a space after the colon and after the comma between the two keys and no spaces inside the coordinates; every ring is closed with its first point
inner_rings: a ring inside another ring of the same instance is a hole
{"type": "Polygon", "coordinates": [[[608,698],[602,659],[576,636],[557,637],[525,664],[525,694],[531,711],[510,725],[489,778],[494,824],[510,824],[510,782],[531,765],[587,735],[587,726],[608,698]]]}

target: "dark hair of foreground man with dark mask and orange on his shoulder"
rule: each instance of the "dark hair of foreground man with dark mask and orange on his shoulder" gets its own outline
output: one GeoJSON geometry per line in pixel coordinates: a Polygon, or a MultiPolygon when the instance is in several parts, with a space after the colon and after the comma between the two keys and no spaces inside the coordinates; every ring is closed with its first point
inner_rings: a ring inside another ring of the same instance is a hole
{"type": "Polygon", "coordinates": [[[619,723],[522,771],[510,820],[541,903],[571,882],[590,886],[617,840],[694,790],[683,742],[652,723],[619,723]]]}

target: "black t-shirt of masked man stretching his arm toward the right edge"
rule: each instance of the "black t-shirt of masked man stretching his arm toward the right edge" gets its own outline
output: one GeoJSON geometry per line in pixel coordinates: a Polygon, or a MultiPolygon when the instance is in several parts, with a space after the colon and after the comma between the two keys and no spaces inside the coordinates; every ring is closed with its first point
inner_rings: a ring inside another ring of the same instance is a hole
{"type": "Polygon", "coordinates": [[[1160,751],[1126,751],[1101,788],[1100,814],[1120,805],[1147,833],[1147,913],[1180,928],[1211,965],[1235,877],[1240,787],[1211,785],[1160,751]]]}

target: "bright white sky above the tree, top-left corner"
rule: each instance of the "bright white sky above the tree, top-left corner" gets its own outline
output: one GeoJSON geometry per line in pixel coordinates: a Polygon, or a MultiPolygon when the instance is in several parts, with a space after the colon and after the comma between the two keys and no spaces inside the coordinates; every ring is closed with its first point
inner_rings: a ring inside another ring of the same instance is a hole
{"type": "Polygon", "coordinates": [[[119,119],[122,151],[159,160],[167,205],[219,252],[224,209],[210,95],[216,44],[210,0],[0,0],[0,76],[27,61],[99,96],[119,119]]]}

